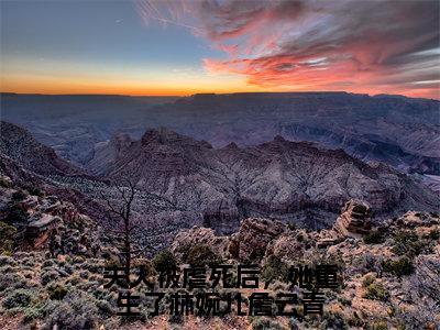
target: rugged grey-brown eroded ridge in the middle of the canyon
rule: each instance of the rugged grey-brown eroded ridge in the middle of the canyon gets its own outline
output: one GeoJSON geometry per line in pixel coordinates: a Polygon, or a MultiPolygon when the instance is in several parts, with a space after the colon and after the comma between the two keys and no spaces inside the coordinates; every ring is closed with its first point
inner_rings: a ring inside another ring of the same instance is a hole
{"type": "Polygon", "coordinates": [[[168,129],[147,130],[135,141],[113,138],[95,157],[96,174],[136,179],[140,188],[201,212],[220,231],[249,216],[323,226],[350,198],[367,201],[377,215],[440,205],[427,187],[389,166],[279,135],[255,146],[213,148],[168,129]]]}

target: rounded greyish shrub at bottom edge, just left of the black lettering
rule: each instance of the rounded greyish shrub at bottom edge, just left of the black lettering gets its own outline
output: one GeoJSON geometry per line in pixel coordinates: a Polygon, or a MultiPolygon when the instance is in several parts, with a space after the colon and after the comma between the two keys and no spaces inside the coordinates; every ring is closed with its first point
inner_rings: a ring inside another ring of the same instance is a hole
{"type": "Polygon", "coordinates": [[[46,326],[58,329],[95,329],[98,308],[94,298],[78,290],[70,292],[63,300],[52,300],[45,308],[46,326]]]}

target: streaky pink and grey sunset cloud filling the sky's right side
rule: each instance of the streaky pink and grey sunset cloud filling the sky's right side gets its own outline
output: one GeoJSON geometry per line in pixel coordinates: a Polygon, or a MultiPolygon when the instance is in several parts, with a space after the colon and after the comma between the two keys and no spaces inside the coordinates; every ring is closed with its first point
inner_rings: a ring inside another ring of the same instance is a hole
{"type": "Polygon", "coordinates": [[[440,98],[439,1],[142,3],[226,53],[205,58],[208,70],[251,85],[440,98]]]}

